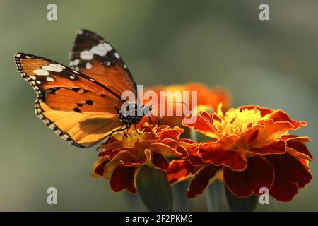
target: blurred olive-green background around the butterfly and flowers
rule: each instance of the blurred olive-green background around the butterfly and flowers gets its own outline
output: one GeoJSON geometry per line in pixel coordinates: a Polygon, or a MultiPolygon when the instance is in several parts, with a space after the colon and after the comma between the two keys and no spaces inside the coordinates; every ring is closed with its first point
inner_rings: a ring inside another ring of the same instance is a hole
{"type": "MultiPolygon", "coordinates": [[[[316,0],[1,0],[0,210],[146,210],[90,177],[95,148],[69,145],[35,117],[35,92],[16,70],[15,52],[67,64],[76,30],[93,30],[114,45],[140,85],[223,85],[234,107],[280,108],[308,121],[298,135],[312,138],[316,156],[317,8],[316,0]],[[57,4],[57,21],[47,20],[49,3],[57,4]],[[259,20],[261,3],[269,4],[268,22],[259,20]],[[47,205],[49,186],[57,188],[56,206],[47,205]]],[[[293,201],[271,199],[257,210],[317,211],[317,160],[311,167],[312,182],[293,201]]],[[[206,210],[204,196],[189,206],[206,210]]]]}

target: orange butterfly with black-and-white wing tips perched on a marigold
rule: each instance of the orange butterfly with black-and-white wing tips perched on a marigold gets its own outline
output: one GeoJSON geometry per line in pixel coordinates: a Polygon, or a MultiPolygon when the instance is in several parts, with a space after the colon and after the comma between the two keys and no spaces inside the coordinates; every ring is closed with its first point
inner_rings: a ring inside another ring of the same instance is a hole
{"type": "Polygon", "coordinates": [[[134,100],[123,114],[122,93],[137,97],[137,87],[118,52],[100,35],[79,30],[69,66],[33,54],[16,53],[18,71],[35,92],[35,114],[58,136],[86,148],[117,131],[129,129],[149,115],[151,106],[134,100]]]}

